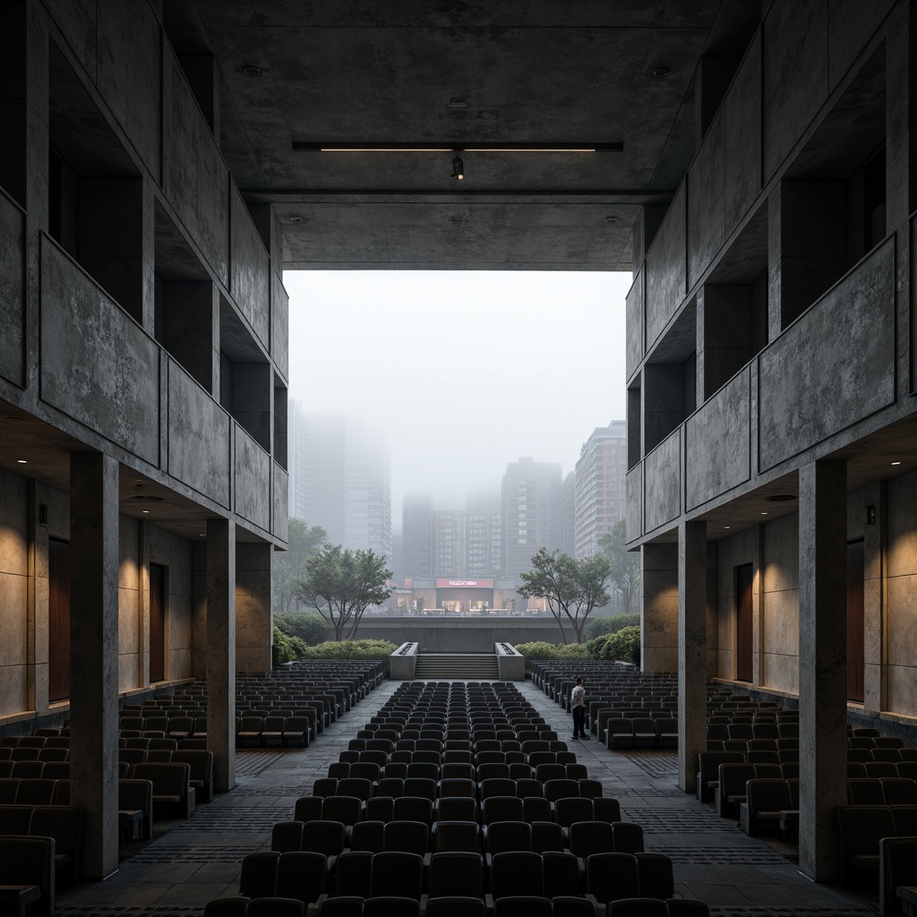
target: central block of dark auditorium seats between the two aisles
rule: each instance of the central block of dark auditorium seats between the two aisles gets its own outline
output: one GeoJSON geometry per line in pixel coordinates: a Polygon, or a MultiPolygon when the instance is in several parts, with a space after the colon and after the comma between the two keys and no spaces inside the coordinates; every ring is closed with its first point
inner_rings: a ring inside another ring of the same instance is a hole
{"type": "MultiPolygon", "coordinates": [[[[626,896],[623,887],[602,891],[609,900],[648,893],[666,909],[658,896],[666,897],[667,881],[645,880],[656,889],[641,889],[636,864],[639,854],[647,872],[656,866],[670,884],[668,857],[644,852],[639,825],[621,822],[617,802],[602,796],[566,743],[546,737],[554,731],[514,685],[405,683],[373,720],[329,765],[329,776],[315,781],[313,794],[297,801],[293,820],[275,825],[272,862],[246,857],[246,913],[260,900],[292,896],[316,915],[471,917],[485,907],[514,913],[517,905],[526,917],[594,915],[599,895],[590,882],[599,888],[618,876],[635,881],[626,896]],[[304,881],[310,856],[313,878],[304,881]],[[597,856],[617,857],[618,866],[597,856]],[[288,871],[284,857],[303,865],[288,871]],[[620,865],[624,857],[632,869],[620,865]],[[267,878],[256,887],[249,881],[260,867],[267,878]]],[[[220,910],[240,909],[238,900],[211,905],[208,917],[243,912],[220,910]]]]}

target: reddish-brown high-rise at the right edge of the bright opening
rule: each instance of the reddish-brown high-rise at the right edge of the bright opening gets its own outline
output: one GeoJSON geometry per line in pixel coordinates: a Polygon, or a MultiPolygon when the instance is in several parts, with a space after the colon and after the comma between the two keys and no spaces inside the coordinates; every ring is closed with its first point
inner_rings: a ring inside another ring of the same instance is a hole
{"type": "Polygon", "coordinates": [[[624,518],[626,473],[627,425],[597,426],[576,463],[575,557],[595,554],[599,538],[624,518]]]}

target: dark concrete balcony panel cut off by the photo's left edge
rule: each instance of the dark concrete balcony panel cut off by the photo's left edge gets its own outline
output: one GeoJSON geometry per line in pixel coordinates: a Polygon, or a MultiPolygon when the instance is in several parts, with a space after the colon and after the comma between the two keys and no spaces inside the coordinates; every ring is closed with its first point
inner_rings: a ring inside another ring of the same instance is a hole
{"type": "Polygon", "coordinates": [[[26,215],[0,192],[0,376],[25,384],[26,215]]]}

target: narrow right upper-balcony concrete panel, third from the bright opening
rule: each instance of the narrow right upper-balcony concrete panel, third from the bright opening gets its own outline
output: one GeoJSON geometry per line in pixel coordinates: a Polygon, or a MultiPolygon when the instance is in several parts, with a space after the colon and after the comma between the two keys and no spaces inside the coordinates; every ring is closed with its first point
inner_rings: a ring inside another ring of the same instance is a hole
{"type": "Polygon", "coordinates": [[[722,116],[713,124],[688,172],[688,286],[691,288],[723,247],[725,137],[722,116]]]}

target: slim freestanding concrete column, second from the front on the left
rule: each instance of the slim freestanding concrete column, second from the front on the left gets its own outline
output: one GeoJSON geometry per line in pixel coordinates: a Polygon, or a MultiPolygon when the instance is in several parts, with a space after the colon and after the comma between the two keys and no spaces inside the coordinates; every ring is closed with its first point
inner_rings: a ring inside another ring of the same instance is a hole
{"type": "Polygon", "coordinates": [[[236,526],[207,520],[207,748],[217,792],[236,786],[236,526]]]}

